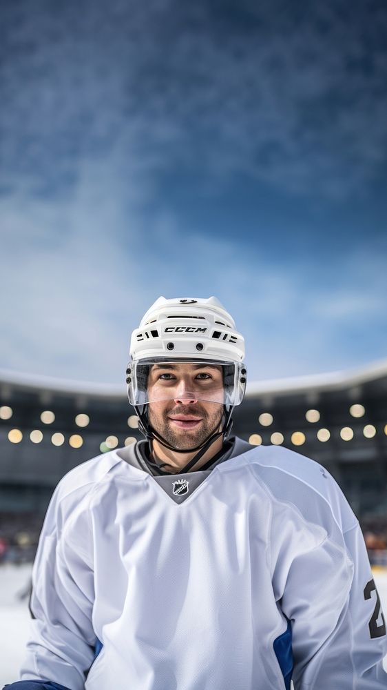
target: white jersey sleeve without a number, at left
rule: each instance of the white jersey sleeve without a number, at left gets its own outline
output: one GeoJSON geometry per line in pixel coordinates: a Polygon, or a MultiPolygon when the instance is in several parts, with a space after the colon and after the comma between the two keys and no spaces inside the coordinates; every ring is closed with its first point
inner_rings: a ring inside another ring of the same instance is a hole
{"type": "MultiPolygon", "coordinates": [[[[83,491],[84,493],[84,491],[83,491]]],[[[94,660],[94,575],[84,496],[56,488],[32,570],[30,638],[21,680],[47,680],[83,690],[94,660]]]]}

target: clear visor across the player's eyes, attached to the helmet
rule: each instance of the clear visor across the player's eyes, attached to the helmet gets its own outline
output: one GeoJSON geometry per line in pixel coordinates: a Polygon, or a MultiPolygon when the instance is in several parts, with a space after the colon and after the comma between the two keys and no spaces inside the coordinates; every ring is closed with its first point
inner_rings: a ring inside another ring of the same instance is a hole
{"type": "Polygon", "coordinates": [[[246,368],[240,362],[141,359],[129,362],[127,392],[130,404],[136,406],[163,400],[234,406],[242,402],[245,375],[246,368]]]}

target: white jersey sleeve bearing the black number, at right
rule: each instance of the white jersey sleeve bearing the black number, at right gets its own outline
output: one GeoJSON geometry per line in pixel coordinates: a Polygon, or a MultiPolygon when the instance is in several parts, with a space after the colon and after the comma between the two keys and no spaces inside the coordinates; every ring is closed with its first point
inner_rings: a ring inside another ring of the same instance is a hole
{"type": "Polygon", "coordinates": [[[272,497],[272,584],[291,621],[295,690],[386,690],[385,620],[346,497],[324,467],[284,448],[267,449],[259,477],[272,497]]]}

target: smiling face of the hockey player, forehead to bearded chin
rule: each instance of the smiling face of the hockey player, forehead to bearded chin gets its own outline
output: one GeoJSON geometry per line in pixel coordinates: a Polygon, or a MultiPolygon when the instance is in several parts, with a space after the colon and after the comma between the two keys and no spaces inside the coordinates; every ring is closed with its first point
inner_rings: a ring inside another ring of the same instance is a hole
{"type": "Polygon", "coordinates": [[[222,367],[153,364],[148,376],[149,422],[167,443],[183,451],[204,442],[223,415],[222,367]],[[218,400],[218,402],[213,402],[218,400]]]}

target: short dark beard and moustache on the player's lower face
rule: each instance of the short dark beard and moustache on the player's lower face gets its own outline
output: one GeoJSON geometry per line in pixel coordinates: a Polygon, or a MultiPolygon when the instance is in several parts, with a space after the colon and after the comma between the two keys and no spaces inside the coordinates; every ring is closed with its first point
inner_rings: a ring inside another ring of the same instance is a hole
{"type": "Polygon", "coordinates": [[[223,417],[223,406],[213,403],[214,411],[209,412],[198,405],[180,405],[170,410],[155,411],[153,405],[149,405],[148,419],[154,430],[172,448],[178,451],[189,451],[191,448],[201,446],[218,430],[223,417]],[[183,429],[173,428],[169,416],[194,415],[202,417],[197,428],[183,429]]]}

